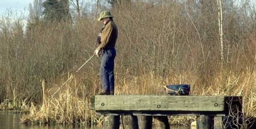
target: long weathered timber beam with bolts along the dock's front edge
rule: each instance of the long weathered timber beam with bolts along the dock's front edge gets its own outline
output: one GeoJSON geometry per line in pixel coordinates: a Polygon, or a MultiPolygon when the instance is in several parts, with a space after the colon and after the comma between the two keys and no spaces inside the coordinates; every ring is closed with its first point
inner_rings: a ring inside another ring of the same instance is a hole
{"type": "Polygon", "coordinates": [[[95,95],[95,110],[224,111],[224,96],[95,95]]]}

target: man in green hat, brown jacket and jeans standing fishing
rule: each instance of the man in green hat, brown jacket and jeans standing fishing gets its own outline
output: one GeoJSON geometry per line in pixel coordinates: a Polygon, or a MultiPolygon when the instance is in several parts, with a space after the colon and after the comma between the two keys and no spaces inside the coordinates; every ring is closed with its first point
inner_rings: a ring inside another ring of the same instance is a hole
{"type": "Polygon", "coordinates": [[[99,70],[102,93],[99,93],[99,95],[114,95],[114,59],[118,30],[110,11],[102,11],[98,20],[104,24],[98,37],[99,47],[94,51],[96,56],[102,54],[99,70]]]}

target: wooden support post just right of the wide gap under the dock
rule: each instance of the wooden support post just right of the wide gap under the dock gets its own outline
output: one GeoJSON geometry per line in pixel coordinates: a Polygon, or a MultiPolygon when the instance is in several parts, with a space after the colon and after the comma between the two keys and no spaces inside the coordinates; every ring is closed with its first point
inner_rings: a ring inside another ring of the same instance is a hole
{"type": "Polygon", "coordinates": [[[214,116],[197,116],[196,129],[214,129],[214,116]]]}

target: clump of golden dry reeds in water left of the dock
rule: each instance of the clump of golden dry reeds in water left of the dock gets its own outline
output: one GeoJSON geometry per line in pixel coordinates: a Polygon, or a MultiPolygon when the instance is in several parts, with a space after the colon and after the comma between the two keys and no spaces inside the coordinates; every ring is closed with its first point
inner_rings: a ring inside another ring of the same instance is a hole
{"type": "Polygon", "coordinates": [[[70,78],[61,84],[55,94],[49,95],[52,89],[45,88],[45,81],[42,80],[43,103],[35,106],[33,103],[30,107],[30,113],[21,118],[25,124],[69,124],[69,123],[92,123],[89,117],[88,101],[81,95],[84,91],[73,84],[75,77],[71,74],[70,78]]]}

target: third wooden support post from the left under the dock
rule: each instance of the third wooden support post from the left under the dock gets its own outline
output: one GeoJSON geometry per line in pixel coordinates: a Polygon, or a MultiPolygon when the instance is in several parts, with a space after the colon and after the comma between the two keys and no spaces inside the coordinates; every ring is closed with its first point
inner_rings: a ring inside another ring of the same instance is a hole
{"type": "Polygon", "coordinates": [[[153,116],[137,116],[139,129],[152,129],[153,116]]]}

